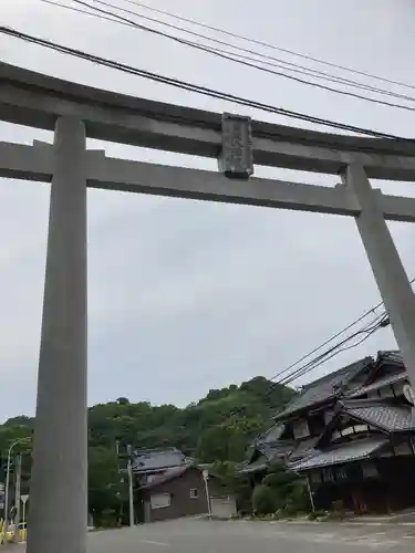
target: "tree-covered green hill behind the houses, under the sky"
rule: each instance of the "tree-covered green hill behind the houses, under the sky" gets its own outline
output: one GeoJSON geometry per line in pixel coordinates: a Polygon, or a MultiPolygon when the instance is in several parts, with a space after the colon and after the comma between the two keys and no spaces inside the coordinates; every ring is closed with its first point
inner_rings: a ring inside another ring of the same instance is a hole
{"type": "MultiPolygon", "coordinates": [[[[176,446],[201,461],[239,461],[248,441],[267,428],[276,410],[294,392],[258,376],[241,386],[211,389],[186,408],[174,405],[133,404],[126,397],[89,409],[90,462],[114,455],[115,440],[133,447],[176,446]]],[[[0,426],[0,450],[28,436],[33,419],[15,417],[0,426]]],[[[105,462],[104,462],[105,465],[105,462]]]]}

